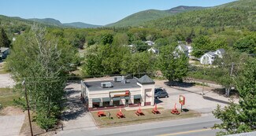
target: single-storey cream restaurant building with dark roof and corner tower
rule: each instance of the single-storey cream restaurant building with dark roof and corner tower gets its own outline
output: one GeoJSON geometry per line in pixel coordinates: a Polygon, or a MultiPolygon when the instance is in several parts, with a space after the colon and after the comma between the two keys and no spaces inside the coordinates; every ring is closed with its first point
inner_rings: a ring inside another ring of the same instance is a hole
{"type": "Polygon", "coordinates": [[[89,110],[154,105],[154,80],[147,75],[139,79],[115,76],[113,80],[82,81],[81,87],[89,110]]]}

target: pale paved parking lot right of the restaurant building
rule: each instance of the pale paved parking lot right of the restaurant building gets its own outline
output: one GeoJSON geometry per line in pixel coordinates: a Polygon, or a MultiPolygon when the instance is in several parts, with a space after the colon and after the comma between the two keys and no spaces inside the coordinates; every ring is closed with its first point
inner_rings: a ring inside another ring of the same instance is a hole
{"type": "MultiPolygon", "coordinates": [[[[165,88],[169,94],[169,97],[159,98],[155,101],[164,108],[173,108],[175,103],[180,108],[180,95],[186,97],[183,108],[193,109],[201,113],[210,113],[217,105],[225,106],[230,102],[228,97],[224,97],[223,94],[214,91],[217,90],[217,87],[197,86],[191,83],[183,84],[182,86],[167,86],[167,80],[155,80],[155,82],[156,88],[165,88]],[[202,90],[204,90],[204,95],[202,95],[202,90]]],[[[234,98],[234,101],[238,101],[238,99],[234,98]]]]}

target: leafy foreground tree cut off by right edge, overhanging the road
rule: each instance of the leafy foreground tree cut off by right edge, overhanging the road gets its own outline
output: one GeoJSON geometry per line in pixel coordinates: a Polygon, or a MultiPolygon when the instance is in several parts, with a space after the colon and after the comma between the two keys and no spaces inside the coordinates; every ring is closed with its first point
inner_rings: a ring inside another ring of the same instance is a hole
{"type": "Polygon", "coordinates": [[[220,105],[213,111],[217,119],[223,123],[215,124],[215,128],[225,131],[218,134],[239,134],[253,131],[256,128],[256,60],[250,58],[244,66],[236,87],[239,91],[239,104],[232,103],[224,108],[220,105]]]}

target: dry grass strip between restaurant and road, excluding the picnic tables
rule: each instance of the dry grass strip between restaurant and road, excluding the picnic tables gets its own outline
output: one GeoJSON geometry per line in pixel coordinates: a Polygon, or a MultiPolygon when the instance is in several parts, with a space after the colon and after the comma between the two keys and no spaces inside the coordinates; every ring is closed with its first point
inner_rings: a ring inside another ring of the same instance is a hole
{"type": "Polygon", "coordinates": [[[102,117],[98,117],[97,112],[91,112],[91,115],[94,117],[98,127],[113,127],[134,123],[153,122],[165,119],[184,119],[200,116],[200,113],[191,110],[188,112],[182,112],[180,113],[180,115],[173,115],[170,109],[159,108],[158,110],[161,112],[161,114],[153,114],[151,110],[152,109],[143,109],[142,111],[145,114],[145,116],[137,116],[134,110],[125,111],[124,109],[122,109],[125,118],[121,119],[118,119],[116,116],[119,109],[105,111],[106,116],[102,117]],[[112,119],[108,118],[108,112],[110,112],[112,119]]]}

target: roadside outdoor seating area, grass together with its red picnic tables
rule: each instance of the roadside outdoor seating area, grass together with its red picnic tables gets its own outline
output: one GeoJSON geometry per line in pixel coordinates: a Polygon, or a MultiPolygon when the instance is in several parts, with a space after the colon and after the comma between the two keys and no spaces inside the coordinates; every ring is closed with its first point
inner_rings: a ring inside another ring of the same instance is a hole
{"type": "MultiPolygon", "coordinates": [[[[145,123],[147,120],[165,120],[165,119],[184,119],[188,117],[200,116],[200,113],[190,110],[182,112],[179,116],[171,113],[171,109],[157,107],[154,108],[155,114],[152,112],[154,107],[148,108],[137,107],[127,110],[126,108],[106,109],[101,110],[106,113],[106,116],[98,117],[99,111],[92,111],[91,115],[95,119],[95,123],[99,127],[120,126],[121,124],[145,123]],[[160,114],[161,113],[161,114],[160,114]]],[[[178,109],[179,110],[179,109],[178,109]]],[[[180,111],[179,111],[180,112],[180,111]]]]}

